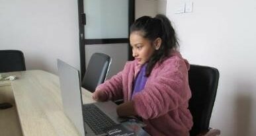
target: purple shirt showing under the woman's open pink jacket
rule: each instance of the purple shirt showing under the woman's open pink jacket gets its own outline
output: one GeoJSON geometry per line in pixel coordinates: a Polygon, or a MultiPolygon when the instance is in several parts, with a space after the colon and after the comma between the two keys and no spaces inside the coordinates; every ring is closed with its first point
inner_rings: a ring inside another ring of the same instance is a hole
{"type": "Polygon", "coordinates": [[[148,77],[146,77],[146,67],[147,67],[147,64],[142,65],[142,68],[140,69],[140,72],[138,73],[138,76],[134,81],[134,90],[132,92],[132,97],[136,93],[144,89],[144,86],[148,79],[148,77]]]}

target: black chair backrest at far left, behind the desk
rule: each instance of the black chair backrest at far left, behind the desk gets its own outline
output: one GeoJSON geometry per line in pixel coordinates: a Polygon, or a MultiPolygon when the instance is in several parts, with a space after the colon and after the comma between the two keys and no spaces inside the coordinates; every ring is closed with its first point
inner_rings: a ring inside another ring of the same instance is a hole
{"type": "Polygon", "coordinates": [[[25,59],[22,51],[0,50],[0,73],[25,70],[25,59]]]}

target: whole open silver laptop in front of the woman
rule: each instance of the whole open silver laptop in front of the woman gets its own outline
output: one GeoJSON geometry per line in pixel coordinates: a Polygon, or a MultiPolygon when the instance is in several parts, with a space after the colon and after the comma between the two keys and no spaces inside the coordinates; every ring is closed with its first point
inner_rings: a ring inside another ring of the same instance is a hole
{"type": "Polygon", "coordinates": [[[104,129],[122,121],[114,102],[83,104],[79,71],[58,59],[58,74],[65,115],[81,135],[107,135],[104,129]],[[103,124],[106,123],[106,124],[103,124]]]}

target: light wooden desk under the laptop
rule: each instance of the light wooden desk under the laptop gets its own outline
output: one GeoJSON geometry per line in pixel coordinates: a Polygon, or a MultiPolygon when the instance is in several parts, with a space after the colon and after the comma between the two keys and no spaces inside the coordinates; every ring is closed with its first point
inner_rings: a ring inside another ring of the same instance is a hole
{"type": "MultiPolygon", "coordinates": [[[[58,76],[40,70],[1,75],[18,79],[0,81],[0,102],[14,104],[0,110],[0,135],[79,135],[63,112],[58,76]]],[[[82,93],[83,103],[94,102],[89,91],[82,89],[82,93]]]]}

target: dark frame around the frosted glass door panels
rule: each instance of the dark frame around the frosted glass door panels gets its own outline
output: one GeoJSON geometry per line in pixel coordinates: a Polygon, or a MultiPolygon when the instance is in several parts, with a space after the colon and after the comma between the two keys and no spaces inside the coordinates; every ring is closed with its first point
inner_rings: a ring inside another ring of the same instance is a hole
{"type": "MultiPolygon", "coordinates": [[[[135,0],[128,0],[128,30],[135,19],[135,0]]],[[[83,0],[77,0],[78,3],[78,21],[79,21],[79,53],[80,53],[80,71],[81,79],[85,75],[85,44],[118,44],[129,43],[129,38],[111,38],[111,39],[89,39],[85,40],[86,16],[83,9],[83,0]]],[[[132,60],[132,49],[128,46],[128,60],[132,60]]]]}

